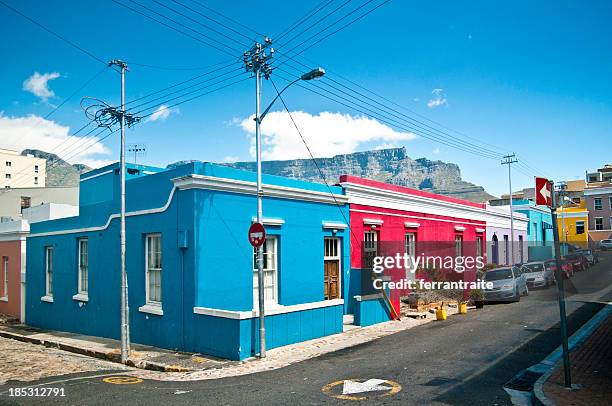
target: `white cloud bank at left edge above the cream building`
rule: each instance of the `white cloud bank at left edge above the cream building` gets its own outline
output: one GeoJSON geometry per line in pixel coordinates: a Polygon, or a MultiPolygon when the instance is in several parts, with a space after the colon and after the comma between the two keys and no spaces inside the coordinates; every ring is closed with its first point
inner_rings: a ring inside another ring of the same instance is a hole
{"type": "Polygon", "coordinates": [[[93,138],[70,135],[70,127],[45,120],[36,115],[24,117],[5,116],[0,112],[0,148],[21,152],[24,149],[40,149],[59,155],[70,163],[83,163],[92,167],[108,164],[110,150],[93,138]],[[98,156],[102,155],[102,157],[98,156]]]}

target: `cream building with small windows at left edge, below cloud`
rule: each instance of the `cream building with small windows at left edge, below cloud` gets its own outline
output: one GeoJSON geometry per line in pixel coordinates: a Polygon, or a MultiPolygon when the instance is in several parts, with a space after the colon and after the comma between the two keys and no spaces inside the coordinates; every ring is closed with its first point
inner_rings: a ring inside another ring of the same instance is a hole
{"type": "Polygon", "coordinates": [[[0,149],[0,188],[45,187],[47,161],[17,151],[0,149]]]}

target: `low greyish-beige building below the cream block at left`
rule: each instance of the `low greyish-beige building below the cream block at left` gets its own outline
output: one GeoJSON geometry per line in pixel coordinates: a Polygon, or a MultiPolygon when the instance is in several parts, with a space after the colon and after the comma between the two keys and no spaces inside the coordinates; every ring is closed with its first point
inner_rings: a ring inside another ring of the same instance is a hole
{"type": "Polygon", "coordinates": [[[45,203],[78,205],[78,187],[0,189],[0,222],[20,220],[23,211],[45,203]]]}

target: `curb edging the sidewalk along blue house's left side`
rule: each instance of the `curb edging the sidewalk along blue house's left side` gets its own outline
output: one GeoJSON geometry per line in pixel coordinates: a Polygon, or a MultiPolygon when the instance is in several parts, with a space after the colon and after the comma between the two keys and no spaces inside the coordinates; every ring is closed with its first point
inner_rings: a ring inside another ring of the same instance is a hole
{"type": "MultiPolygon", "coordinates": [[[[40,339],[36,337],[28,337],[23,334],[13,333],[13,332],[1,330],[1,329],[0,329],[0,337],[22,341],[22,342],[30,343],[30,344],[43,345],[48,348],[55,348],[55,349],[62,350],[62,351],[72,352],[72,353],[79,354],[79,355],[85,355],[88,357],[98,358],[98,359],[102,359],[105,361],[116,362],[116,363],[121,364],[121,355],[116,352],[112,352],[112,351],[104,352],[104,351],[96,351],[96,350],[91,350],[91,349],[86,349],[86,348],[81,348],[81,347],[75,347],[73,345],[64,344],[58,341],[44,340],[44,339],[40,339]]],[[[157,371],[157,372],[190,372],[191,371],[191,369],[189,368],[181,367],[178,365],[165,365],[165,364],[160,364],[157,362],[146,361],[146,360],[128,359],[126,365],[130,367],[134,367],[134,368],[146,369],[149,371],[157,371]]]]}

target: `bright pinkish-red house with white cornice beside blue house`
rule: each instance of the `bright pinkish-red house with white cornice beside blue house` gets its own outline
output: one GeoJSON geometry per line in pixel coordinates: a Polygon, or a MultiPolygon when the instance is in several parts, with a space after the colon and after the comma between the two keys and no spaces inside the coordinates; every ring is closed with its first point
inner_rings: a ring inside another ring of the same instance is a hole
{"type": "MultiPolygon", "coordinates": [[[[341,176],[340,184],[350,204],[351,284],[357,293],[353,308],[362,305],[358,302],[364,297],[378,299],[376,294],[359,294],[367,290],[371,272],[358,274],[368,268],[365,263],[372,255],[405,252],[415,259],[423,255],[486,257],[484,204],[349,175],[341,176]]],[[[406,269],[385,275],[394,281],[421,278],[406,269]]],[[[476,267],[466,267],[451,278],[473,281],[476,267]]],[[[390,291],[396,309],[400,296],[406,293],[408,289],[390,291]]]]}

